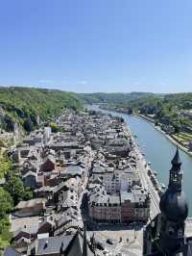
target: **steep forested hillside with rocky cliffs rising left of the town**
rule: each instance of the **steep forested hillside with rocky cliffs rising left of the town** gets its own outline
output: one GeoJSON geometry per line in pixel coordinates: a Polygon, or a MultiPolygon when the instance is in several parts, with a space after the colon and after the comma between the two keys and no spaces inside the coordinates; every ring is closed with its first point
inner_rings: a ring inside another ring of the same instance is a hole
{"type": "Polygon", "coordinates": [[[15,123],[31,130],[40,121],[60,115],[63,108],[80,109],[80,99],[60,90],[0,88],[0,125],[13,131],[15,123]]]}

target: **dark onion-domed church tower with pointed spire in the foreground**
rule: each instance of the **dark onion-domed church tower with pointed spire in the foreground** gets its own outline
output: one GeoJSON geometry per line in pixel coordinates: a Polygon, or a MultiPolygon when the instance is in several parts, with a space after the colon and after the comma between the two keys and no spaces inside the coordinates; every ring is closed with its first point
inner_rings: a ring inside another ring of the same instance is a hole
{"type": "Polygon", "coordinates": [[[188,215],[188,205],[182,192],[182,171],[180,153],[177,147],[172,160],[168,189],[160,198],[159,245],[166,255],[175,255],[184,245],[184,224],[188,215]]]}

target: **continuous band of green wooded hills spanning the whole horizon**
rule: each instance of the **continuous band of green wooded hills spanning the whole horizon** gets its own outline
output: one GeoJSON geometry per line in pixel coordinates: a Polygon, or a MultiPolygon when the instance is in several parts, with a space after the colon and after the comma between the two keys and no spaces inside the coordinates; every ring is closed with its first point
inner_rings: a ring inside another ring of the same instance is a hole
{"type": "MultiPolygon", "coordinates": [[[[192,109],[192,92],[73,93],[21,87],[0,87],[0,128],[14,131],[18,124],[30,131],[48,118],[60,115],[63,108],[79,110],[84,104],[107,103],[109,106],[132,108],[141,113],[155,114],[157,120],[175,114],[176,109],[192,109]],[[159,116],[158,116],[159,115],[159,116]]],[[[173,119],[172,116],[170,119],[173,119]]]]}

